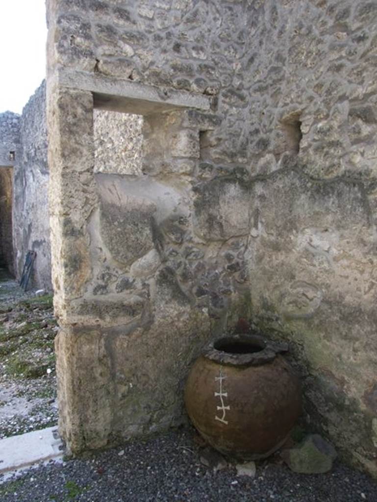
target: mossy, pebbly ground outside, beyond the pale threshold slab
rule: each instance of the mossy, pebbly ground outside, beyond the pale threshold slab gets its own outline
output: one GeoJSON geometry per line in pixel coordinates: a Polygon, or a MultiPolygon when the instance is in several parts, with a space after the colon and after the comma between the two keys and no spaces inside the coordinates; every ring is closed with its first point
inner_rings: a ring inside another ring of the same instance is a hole
{"type": "Polygon", "coordinates": [[[57,423],[52,297],[0,269],[0,439],[57,423]]]}

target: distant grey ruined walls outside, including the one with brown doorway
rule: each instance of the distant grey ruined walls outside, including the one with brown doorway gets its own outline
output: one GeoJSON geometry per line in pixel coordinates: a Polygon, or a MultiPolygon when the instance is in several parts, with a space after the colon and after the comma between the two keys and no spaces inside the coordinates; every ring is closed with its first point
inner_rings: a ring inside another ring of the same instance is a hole
{"type": "Polygon", "coordinates": [[[20,280],[26,254],[34,250],[37,256],[29,287],[51,291],[45,82],[22,115],[0,113],[0,169],[0,254],[7,257],[7,266],[20,280]]]}

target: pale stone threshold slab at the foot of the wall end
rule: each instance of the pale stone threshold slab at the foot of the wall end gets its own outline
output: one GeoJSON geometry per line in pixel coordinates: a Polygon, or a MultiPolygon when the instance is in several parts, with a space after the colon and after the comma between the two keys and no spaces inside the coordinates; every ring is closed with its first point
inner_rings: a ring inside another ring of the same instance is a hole
{"type": "Polygon", "coordinates": [[[63,443],[56,427],[27,432],[0,440],[0,474],[62,459],[63,443]]]}

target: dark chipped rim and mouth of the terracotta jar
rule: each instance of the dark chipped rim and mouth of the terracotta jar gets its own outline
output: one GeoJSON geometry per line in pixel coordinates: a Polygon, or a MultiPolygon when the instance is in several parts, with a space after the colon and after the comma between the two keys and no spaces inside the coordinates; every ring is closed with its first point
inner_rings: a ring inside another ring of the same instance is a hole
{"type": "Polygon", "coordinates": [[[260,366],[289,350],[287,343],[266,340],[257,334],[225,335],[206,345],[203,356],[231,366],[260,366]]]}

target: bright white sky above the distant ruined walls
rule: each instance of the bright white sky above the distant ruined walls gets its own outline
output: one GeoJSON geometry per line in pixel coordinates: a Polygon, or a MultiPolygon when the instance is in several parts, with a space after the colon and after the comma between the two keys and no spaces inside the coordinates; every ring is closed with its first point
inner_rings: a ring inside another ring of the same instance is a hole
{"type": "Polygon", "coordinates": [[[0,0],[0,112],[21,113],[45,78],[45,0],[0,0]]]}

